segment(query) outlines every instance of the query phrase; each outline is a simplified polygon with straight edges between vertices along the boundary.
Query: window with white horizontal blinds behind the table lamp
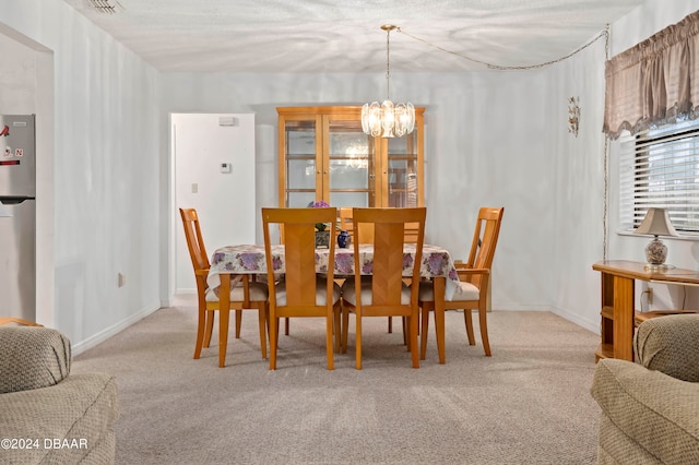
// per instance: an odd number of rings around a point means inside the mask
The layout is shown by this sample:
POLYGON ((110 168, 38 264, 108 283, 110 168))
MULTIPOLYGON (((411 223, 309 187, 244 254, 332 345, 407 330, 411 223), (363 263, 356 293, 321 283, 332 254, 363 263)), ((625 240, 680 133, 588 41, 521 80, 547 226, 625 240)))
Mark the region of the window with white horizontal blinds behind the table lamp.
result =
POLYGON ((699 120, 623 138, 620 178, 624 229, 655 206, 667 208, 680 236, 699 234, 699 120))

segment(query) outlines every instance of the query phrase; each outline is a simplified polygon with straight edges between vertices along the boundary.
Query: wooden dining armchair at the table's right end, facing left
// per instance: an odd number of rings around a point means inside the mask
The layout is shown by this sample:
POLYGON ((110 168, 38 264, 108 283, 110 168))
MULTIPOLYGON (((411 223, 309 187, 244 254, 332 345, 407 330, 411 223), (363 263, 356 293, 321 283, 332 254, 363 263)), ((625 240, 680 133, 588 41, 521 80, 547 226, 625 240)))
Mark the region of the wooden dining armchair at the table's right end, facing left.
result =
POLYGON ((453 296, 445 294, 443 279, 422 282, 419 288, 419 308, 422 315, 420 358, 425 359, 427 350, 427 329, 429 311, 435 312, 435 329, 437 334, 437 350, 439 362, 445 363, 445 310, 463 309, 464 323, 469 344, 475 345, 473 334, 472 311, 478 310, 478 324, 485 355, 490 357, 490 343, 487 326, 487 296, 490 282, 490 267, 498 243, 500 224, 505 207, 481 207, 473 233, 471 251, 466 263, 457 263, 459 286, 453 296))

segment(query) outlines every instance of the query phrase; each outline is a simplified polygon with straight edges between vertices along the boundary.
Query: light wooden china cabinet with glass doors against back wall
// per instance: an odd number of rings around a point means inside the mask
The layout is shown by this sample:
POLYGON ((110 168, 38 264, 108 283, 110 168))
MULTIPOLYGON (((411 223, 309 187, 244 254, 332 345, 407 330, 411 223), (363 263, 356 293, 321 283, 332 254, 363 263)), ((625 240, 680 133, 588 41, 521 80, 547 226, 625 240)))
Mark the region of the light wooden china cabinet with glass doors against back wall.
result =
POLYGON ((280 206, 424 205, 424 111, 402 138, 362 130, 360 106, 279 107, 280 206))

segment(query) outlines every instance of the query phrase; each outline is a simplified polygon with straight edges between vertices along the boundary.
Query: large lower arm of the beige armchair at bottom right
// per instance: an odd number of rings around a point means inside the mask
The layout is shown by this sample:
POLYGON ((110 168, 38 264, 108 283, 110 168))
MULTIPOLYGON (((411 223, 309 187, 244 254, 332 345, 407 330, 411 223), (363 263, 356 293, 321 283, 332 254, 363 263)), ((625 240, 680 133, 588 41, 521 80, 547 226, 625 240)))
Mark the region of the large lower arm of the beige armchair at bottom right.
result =
POLYGON ((601 425, 606 425, 600 430, 605 456, 616 463, 650 457, 665 464, 699 463, 699 384, 630 361, 602 359, 591 394, 602 407, 601 425))

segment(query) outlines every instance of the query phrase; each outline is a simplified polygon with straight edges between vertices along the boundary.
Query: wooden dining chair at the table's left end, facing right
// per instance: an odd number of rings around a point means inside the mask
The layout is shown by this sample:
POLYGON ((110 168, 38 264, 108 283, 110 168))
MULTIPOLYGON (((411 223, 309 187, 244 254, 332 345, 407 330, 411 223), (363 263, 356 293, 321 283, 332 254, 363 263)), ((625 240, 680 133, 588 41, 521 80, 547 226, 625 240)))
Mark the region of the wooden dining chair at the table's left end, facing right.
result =
POLYGON ((257 310, 260 326, 260 349, 262 358, 266 358, 266 320, 268 320, 268 286, 263 283, 256 283, 247 274, 234 276, 222 275, 222 278, 229 276, 230 282, 230 305, 227 309, 222 309, 218 301, 217 289, 212 289, 206 284, 209 276, 209 255, 204 247, 204 239, 199 225, 199 216, 194 208, 179 208, 185 226, 185 238, 189 249, 189 257, 194 267, 197 278, 197 295, 199 301, 199 322, 197 325, 197 343, 194 346, 194 358, 201 356, 202 347, 209 347, 214 325, 214 312, 218 310, 218 366, 224 367, 226 361, 226 347, 228 344, 228 314, 230 310, 236 311, 236 338, 240 337, 240 325, 242 323, 242 310, 257 310), (235 281, 235 283, 234 283, 235 281))

